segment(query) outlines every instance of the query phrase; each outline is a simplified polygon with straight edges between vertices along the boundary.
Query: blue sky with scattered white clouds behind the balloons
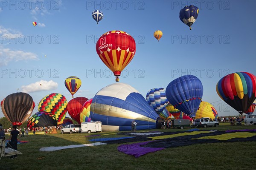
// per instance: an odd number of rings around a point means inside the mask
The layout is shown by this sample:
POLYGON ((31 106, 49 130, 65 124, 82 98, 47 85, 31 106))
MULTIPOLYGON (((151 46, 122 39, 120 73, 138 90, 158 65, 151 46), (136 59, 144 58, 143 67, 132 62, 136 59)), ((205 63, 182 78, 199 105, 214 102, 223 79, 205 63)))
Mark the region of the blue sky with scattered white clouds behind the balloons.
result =
POLYGON ((218 96, 216 83, 233 72, 256 74, 253 0, 29 2, 1 0, 1 101, 26 91, 27 85, 36 104, 50 93, 63 94, 70 101, 64 86, 69 76, 82 81, 75 97, 92 98, 115 83, 95 48, 98 38, 111 30, 125 31, 136 41, 136 54, 120 82, 143 96, 151 88, 166 88, 177 77, 192 74, 204 86, 203 101, 212 103, 219 116, 238 115, 218 96), (185 5, 199 8, 191 31, 179 19, 185 5), (95 9, 104 14, 98 25, 91 16, 95 9), (33 21, 38 25, 34 27, 33 21), (163 32, 160 42, 153 36, 156 30, 163 32), (31 85, 35 82, 43 82, 43 87, 31 85))

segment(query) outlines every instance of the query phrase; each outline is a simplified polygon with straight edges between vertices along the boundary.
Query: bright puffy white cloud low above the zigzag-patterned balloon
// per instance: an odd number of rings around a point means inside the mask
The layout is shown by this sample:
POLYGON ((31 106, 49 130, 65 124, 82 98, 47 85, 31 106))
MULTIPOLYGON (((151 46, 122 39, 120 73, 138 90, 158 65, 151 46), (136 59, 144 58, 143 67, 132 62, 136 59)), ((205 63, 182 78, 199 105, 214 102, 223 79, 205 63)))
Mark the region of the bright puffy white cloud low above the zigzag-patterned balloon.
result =
POLYGON ((40 80, 39 82, 31 83, 30 85, 21 86, 21 91, 24 93, 32 93, 37 91, 49 91, 58 88, 58 83, 50 80, 49 82, 45 80, 40 80))

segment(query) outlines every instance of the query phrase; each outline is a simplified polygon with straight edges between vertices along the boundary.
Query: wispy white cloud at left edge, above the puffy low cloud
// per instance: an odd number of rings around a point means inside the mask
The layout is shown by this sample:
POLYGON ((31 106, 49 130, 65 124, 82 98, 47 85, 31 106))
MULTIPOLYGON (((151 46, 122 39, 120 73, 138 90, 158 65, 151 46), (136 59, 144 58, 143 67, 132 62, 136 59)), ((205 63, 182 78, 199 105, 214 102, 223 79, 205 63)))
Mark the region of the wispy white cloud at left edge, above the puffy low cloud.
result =
POLYGON ((12 61, 38 60, 38 55, 26 51, 12 51, 9 48, 0 48, 0 65, 7 65, 12 61))

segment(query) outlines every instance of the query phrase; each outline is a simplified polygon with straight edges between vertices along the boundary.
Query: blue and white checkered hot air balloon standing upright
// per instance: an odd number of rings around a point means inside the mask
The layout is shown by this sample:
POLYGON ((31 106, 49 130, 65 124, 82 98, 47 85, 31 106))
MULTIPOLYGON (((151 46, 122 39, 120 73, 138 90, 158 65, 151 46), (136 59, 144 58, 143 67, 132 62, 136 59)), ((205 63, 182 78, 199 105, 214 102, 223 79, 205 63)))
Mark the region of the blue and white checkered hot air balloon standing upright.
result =
POLYGON ((157 114, 162 113, 168 104, 166 91, 164 88, 152 88, 150 91, 148 91, 146 100, 148 101, 148 104, 157 112, 157 114))

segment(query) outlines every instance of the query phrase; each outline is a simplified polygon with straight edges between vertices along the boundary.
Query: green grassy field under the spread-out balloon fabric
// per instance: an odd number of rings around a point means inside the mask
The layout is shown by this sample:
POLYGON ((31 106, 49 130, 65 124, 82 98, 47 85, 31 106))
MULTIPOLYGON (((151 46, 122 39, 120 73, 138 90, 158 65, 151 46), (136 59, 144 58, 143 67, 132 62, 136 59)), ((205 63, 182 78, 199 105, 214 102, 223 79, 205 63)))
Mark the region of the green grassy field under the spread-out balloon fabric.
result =
MULTIPOLYGON (((230 126, 221 123, 219 127, 199 128, 201 130, 238 130, 256 129, 251 126, 230 126)), ((157 131, 184 131, 168 129, 157 131)), ((142 131, 142 130, 141 130, 142 131)), ((156 131, 143 130, 143 131, 156 131)), ((140 132, 140 131, 137 131, 140 132)), ((116 132, 91 133, 102 135, 116 132)), ((88 139, 119 137, 88 136, 87 133, 75 134, 30 134, 22 137, 28 143, 18 144, 23 154, 17 159, 3 157, 0 170, 252 170, 256 169, 256 141, 214 144, 194 144, 190 146, 167 148, 148 153, 139 158, 129 156, 117 150, 121 144, 107 144, 93 147, 78 147, 53 152, 41 152, 41 147, 66 146, 70 144, 88 144, 88 139)), ((9 139, 9 136, 6 136, 9 139)))

